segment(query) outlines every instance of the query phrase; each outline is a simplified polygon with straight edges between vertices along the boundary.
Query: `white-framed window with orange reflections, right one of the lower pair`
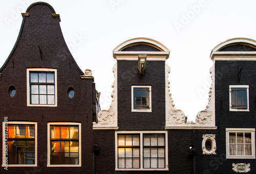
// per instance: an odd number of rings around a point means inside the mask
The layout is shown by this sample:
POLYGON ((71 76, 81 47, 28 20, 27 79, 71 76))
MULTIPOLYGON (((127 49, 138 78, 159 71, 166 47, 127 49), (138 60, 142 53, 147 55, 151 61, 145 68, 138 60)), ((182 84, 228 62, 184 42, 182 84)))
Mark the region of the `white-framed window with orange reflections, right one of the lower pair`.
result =
POLYGON ((81 166, 81 123, 48 123, 48 167, 81 166))

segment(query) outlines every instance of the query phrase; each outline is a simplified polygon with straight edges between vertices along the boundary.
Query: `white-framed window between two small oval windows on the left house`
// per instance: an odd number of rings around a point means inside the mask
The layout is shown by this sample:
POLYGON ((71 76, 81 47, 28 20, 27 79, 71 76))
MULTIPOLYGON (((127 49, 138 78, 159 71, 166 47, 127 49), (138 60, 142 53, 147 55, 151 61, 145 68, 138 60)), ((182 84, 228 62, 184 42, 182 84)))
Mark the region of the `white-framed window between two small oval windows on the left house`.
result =
POLYGON ((27 69, 27 105, 57 106, 57 70, 27 69))

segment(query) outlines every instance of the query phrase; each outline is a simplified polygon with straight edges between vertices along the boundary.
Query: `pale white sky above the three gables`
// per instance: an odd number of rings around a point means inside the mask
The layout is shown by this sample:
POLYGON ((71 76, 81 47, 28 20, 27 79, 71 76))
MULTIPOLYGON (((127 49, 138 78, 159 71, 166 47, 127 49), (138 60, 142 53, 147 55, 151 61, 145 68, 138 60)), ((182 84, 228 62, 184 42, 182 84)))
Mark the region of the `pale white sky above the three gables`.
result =
MULTIPOLYGON (((33 0, 0 0, 0 67, 8 58, 33 0)), ((245 0, 46 0, 57 14, 79 68, 91 69, 101 110, 111 103, 113 50, 147 37, 170 50, 170 93, 188 120, 208 104, 211 50, 230 38, 256 40, 256 1, 245 0)))

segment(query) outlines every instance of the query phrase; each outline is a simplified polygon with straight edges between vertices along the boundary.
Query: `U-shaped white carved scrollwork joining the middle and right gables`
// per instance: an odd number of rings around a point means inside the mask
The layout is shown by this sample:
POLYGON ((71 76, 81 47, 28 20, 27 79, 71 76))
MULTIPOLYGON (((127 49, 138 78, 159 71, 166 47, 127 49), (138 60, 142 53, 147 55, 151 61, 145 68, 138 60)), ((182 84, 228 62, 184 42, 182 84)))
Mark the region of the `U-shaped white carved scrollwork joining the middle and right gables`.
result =
POLYGON ((196 122, 185 121, 185 114, 177 110, 173 103, 172 94, 169 92, 168 74, 170 67, 165 63, 165 129, 217 129, 215 126, 215 65, 210 68, 211 86, 209 91, 208 105, 204 111, 196 116, 196 122))

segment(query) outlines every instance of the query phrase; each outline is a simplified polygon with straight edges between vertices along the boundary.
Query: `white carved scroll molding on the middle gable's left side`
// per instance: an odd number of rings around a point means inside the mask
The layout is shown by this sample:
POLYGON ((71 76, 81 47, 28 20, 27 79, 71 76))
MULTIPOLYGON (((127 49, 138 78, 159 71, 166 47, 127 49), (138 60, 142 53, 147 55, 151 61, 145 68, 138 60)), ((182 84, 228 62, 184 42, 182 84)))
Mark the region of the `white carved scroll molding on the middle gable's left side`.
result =
POLYGON ((98 113, 98 123, 93 122, 93 129, 118 129, 117 127, 117 62, 113 67, 114 82, 111 93, 112 102, 109 110, 102 110, 98 113))

